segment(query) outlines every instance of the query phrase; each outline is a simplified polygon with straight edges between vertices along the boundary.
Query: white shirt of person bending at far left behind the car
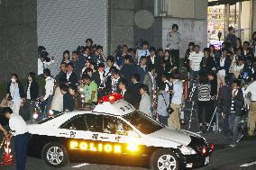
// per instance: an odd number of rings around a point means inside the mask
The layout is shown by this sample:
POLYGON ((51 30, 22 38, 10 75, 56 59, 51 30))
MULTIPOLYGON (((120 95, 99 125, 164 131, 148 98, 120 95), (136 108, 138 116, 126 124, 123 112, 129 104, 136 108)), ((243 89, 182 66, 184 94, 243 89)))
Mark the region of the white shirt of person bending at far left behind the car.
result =
POLYGON ((23 120, 23 117, 19 114, 11 114, 9 120, 9 127, 13 131, 12 134, 14 136, 22 135, 28 132, 26 122, 23 120))

